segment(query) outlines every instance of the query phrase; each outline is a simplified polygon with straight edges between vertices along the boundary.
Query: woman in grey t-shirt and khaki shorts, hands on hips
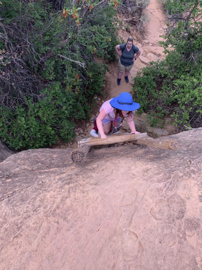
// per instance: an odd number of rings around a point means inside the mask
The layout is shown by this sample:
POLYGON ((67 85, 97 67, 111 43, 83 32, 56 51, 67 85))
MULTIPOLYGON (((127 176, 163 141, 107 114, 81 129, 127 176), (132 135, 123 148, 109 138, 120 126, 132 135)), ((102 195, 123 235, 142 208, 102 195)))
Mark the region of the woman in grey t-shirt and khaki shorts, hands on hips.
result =
POLYGON ((128 83, 129 82, 128 74, 134 65, 134 61, 140 56, 141 50, 137 46, 133 45, 132 38, 128 38, 126 44, 116 45, 116 53, 117 55, 121 56, 118 62, 119 71, 118 71, 117 85, 121 84, 121 76, 124 71, 125 71, 125 80, 128 83))

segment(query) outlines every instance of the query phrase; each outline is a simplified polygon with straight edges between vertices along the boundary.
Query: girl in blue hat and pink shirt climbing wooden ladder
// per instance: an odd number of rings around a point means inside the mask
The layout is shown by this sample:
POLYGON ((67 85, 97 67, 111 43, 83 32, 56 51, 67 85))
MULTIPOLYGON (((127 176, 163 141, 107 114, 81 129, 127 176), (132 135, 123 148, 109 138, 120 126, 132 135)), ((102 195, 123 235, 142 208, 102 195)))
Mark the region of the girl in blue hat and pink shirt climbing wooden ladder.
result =
POLYGON ((140 104, 133 102, 133 98, 128 92, 120 93, 118 97, 107 100, 102 104, 99 115, 93 121, 94 127, 90 131, 90 135, 98 137, 99 131, 101 139, 106 139, 105 133, 113 134, 120 130, 124 117, 131 129, 130 134, 140 133, 136 131, 133 121, 134 111, 139 108, 140 104))

